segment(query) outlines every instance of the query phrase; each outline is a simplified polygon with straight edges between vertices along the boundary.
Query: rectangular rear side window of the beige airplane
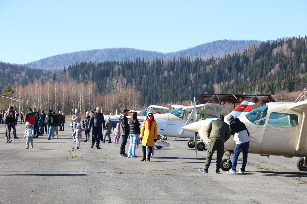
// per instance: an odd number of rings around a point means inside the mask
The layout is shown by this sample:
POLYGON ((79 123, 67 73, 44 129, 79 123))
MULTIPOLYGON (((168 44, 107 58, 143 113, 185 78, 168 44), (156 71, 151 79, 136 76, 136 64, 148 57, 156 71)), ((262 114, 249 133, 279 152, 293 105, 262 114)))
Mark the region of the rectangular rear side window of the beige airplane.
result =
POLYGON ((272 126, 288 126, 296 127, 298 124, 298 116, 290 113, 271 113, 269 117, 269 125, 272 126))

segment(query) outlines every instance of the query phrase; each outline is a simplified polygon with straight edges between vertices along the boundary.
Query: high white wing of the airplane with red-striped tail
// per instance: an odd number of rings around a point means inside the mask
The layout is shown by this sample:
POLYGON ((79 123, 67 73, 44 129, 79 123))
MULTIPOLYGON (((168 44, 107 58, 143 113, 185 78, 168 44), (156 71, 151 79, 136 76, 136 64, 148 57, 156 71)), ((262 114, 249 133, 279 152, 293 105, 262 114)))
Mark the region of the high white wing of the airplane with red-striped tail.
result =
MULTIPOLYGON (((183 110, 192 112, 194 106, 187 106, 184 107, 183 110)), ((196 112, 199 114, 210 114, 210 115, 218 115, 218 114, 224 114, 227 113, 230 110, 230 107, 223 106, 219 104, 200 104, 196 105, 196 112)))

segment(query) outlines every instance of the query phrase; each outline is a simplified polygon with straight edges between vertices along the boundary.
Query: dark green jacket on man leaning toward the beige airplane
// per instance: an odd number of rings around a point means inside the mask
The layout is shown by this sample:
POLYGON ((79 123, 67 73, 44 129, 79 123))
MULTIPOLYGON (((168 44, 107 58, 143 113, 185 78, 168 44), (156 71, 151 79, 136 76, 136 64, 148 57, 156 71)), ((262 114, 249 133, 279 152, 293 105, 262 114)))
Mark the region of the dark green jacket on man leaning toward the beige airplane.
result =
POLYGON ((206 129, 207 137, 211 139, 219 139, 226 142, 230 138, 229 125, 223 119, 212 120, 206 129))

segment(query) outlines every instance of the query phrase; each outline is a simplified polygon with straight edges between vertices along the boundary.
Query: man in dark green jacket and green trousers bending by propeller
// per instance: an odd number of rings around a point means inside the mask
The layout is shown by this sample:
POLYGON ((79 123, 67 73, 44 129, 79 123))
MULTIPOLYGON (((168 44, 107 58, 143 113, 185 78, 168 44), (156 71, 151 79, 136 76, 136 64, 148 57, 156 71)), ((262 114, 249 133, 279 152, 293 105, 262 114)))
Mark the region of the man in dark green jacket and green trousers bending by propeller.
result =
POLYGON ((224 154, 224 143, 230 138, 229 125, 224 122, 224 116, 220 115, 217 120, 212 120, 207 126, 206 133, 209 139, 206 164, 204 168, 199 168, 198 170, 204 174, 208 174, 208 168, 211 164, 212 155, 216 150, 215 173, 219 174, 224 154))

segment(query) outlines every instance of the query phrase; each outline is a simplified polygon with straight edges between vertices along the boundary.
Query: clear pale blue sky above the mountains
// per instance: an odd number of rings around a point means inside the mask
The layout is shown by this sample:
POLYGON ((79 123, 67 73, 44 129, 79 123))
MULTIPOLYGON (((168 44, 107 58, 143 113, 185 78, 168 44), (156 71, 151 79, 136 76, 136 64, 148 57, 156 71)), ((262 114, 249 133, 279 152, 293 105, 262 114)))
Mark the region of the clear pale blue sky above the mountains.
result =
POLYGON ((172 52, 214 40, 307 35, 307 1, 0 0, 0 61, 91 49, 172 52))

